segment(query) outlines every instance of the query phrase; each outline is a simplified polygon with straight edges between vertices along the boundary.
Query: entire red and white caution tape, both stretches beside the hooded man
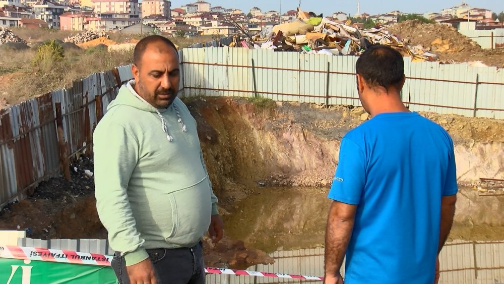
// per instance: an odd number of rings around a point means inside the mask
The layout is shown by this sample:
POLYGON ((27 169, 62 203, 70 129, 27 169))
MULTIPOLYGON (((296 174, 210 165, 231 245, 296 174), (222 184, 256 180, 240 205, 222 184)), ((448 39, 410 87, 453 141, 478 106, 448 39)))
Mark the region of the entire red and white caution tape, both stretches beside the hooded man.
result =
MULTIPOLYGON (((68 250, 56 250, 45 248, 1 246, 0 258, 31 259, 39 261, 63 262, 73 264, 91 264, 110 266, 111 255, 76 252, 68 250)), ((269 273, 247 270, 234 270, 227 268, 205 267, 206 273, 211 274, 231 274, 241 276, 277 277, 290 279, 324 280, 323 277, 305 276, 294 274, 269 273)))

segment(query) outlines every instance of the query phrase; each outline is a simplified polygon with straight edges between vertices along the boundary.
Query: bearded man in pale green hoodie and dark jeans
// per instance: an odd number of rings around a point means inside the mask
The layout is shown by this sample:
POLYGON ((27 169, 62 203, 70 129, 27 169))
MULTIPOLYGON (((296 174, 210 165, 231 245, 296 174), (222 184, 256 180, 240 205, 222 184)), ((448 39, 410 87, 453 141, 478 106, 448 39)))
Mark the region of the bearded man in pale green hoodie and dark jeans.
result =
POLYGON ((217 212, 196 121, 177 98, 174 44, 142 39, 134 80, 123 85, 94 134, 95 196, 116 251, 119 283, 205 283, 201 238, 218 242, 217 212))

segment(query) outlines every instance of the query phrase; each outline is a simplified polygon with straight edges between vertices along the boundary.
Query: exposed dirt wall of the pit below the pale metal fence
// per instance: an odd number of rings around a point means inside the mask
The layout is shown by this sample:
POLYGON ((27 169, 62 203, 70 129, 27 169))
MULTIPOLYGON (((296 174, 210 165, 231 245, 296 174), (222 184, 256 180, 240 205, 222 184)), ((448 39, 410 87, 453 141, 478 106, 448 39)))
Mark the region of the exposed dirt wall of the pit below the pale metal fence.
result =
MULTIPOLYGON (((296 103, 257 107, 231 98, 196 101, 192 108, 217 190, 230 181, 329 186, 341 138, 367 118, 358 108, 296 103)), ((460 183, 504 179, 504 121, 421 114, 453 137, 460 183)))

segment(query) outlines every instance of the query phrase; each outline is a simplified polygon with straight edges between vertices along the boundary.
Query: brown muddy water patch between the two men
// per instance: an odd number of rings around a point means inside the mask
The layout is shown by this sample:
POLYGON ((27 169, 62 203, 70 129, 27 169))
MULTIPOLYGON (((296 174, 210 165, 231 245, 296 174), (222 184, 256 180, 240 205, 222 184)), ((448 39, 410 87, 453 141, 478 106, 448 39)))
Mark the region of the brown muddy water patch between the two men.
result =
POLYGON ((328 188, 255 187, 224 217, 226 235, 273 252, 324 243, 328 188))

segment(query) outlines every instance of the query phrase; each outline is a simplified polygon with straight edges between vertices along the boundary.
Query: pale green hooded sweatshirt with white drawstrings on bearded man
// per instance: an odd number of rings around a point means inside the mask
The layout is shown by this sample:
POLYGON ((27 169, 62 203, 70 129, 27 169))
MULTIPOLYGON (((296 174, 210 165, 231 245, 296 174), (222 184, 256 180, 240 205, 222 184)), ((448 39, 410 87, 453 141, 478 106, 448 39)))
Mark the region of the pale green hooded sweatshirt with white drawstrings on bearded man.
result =
POLYGON ((218 214, 196 121, 176 98, 157 109, 132 80, 93 134, 96 207, 110 247, 126 265, 145 249, 196 245, 218 214))

